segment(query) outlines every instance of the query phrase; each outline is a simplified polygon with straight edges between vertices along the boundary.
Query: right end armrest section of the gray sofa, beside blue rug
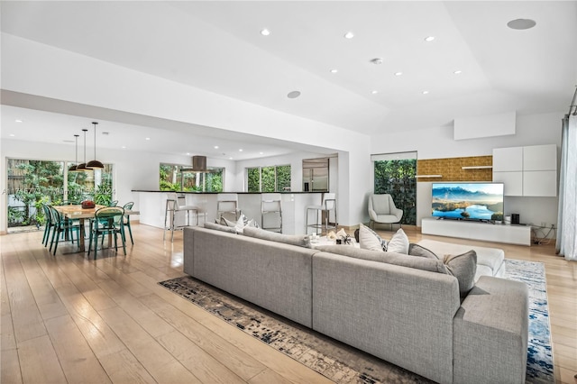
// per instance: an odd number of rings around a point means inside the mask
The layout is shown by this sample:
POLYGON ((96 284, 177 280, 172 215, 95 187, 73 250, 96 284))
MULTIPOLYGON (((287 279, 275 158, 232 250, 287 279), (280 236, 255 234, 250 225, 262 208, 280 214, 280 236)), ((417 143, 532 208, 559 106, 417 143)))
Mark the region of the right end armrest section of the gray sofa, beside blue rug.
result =
POLYGON ((454 317, 454 383, 524 383, 528 289, 482 276, 454 317))

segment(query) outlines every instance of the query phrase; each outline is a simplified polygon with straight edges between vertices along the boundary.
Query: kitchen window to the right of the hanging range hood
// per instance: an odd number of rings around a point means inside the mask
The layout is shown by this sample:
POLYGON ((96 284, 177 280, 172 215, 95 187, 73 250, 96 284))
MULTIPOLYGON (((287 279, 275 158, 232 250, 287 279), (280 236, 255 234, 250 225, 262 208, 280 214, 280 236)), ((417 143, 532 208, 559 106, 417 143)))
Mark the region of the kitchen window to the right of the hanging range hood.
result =
POLYGON ((286 192, 290 190, 290 166, 278 165, 246 169, 248 192, 286 192))

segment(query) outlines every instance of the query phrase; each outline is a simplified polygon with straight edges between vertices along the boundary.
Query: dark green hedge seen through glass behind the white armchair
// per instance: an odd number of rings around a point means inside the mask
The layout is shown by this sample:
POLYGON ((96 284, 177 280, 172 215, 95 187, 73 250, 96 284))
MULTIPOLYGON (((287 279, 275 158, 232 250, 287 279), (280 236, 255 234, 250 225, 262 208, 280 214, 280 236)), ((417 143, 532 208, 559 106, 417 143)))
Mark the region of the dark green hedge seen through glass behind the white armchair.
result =
POLYGON ((417 159, 375 161, 376 194, 388 193, 403 210, 402 224, 417 224, 417 159))

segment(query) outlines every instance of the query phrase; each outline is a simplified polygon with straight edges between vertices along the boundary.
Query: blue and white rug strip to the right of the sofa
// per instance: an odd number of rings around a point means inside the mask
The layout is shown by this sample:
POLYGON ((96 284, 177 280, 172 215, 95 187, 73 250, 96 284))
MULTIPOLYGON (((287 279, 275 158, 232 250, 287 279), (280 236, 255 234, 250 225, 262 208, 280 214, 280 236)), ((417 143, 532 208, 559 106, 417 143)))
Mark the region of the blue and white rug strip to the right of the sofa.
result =
POLYGON ((547 306, 545 265, 542 262, 505 260, 507 278, 529 288, 527 383, 554 382, 551 325, 547 306))

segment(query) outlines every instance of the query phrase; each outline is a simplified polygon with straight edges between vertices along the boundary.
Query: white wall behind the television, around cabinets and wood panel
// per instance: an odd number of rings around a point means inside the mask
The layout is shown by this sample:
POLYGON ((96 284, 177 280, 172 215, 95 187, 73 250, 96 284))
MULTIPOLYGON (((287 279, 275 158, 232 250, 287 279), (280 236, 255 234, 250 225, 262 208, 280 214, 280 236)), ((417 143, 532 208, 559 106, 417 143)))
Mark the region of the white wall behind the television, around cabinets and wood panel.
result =
MULTIPOLYGON (((453 127, 427 128, 417 132, 375 136, 371 153, 417 151, 417 159, 444 159, 491 155, 493 148, 557 144, 561 155, 561 119, 564 113, 517 115, 515 134, 491 138, 453 140, 453 127)), ((518 213, 522 223, 557 223, 556 197, 506 197, 505 215, 518 213)), ((431 215, 431 183, 417 183, 417 225, 431 215)))

